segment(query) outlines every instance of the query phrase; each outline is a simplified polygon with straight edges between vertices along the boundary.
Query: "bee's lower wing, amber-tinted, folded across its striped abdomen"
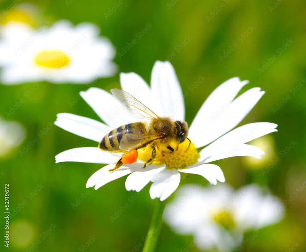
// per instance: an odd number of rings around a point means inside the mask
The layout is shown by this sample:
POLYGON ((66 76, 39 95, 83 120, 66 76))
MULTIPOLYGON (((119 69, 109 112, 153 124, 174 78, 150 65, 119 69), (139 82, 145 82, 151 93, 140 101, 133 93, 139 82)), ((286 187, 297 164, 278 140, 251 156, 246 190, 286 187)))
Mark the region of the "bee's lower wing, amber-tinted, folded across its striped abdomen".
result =
POLYGON ((161 135, 127 133, 122 137, 119 148, 120 150, 138 149, 160 138, 161 135))

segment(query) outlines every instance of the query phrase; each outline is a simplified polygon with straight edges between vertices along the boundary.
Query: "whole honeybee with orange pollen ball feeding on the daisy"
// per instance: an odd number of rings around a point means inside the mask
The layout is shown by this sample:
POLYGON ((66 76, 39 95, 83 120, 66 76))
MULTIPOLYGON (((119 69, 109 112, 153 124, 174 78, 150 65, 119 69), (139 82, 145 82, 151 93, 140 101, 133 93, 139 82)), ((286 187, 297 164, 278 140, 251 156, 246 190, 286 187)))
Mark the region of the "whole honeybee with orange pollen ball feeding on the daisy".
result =
MULTIPOLYGON (((110 152, 133 150, 133 153, 136 153, 137 158, 138 153, 136 150, 151 145, 152 155, 151 159, 147 161, 147 163, 149 163, 156 156, 155 147, 157 150, 159 150, 159 146, 165 147, 170 153, 173 153, 174 149, 170 146, 172 141, 182 143, 185 139, 188 139, 188 124, 185 121, 174 121, 169 117, 159 117, 135 97, 121 89, 111 89, 110 91, 123 105, 126 113, 138 119, 148 119, 150 120, 150 123, 146 127, 144 123, 135 122, 122 125, 112 130, 106 134, 101 143, 99 143, 98 147, 101 150, 110 152)), ((122 157, 124 155, 125 154, 123 154, 122 157)), ((115 167, 109 170, 109 172, 112 172, 121 167, 121 165, 126 164, 125 162, 122 162, 122 157, 119 159, 115 167)))

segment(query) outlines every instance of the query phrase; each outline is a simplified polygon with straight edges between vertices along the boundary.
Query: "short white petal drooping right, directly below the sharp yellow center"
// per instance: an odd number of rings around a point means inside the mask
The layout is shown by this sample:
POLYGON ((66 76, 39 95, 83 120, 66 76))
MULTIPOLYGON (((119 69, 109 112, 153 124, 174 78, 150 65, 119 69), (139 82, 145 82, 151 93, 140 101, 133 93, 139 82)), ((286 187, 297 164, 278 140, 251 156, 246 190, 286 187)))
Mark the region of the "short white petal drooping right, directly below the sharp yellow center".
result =
POLYGON ((178 169, 179 172, 199 174, 206 178, 212 185, 217 184, 217 180, 220 182, 225 182, 225 177, 221 168, 218 165, 213 164, 203 164, 203 165, 192 165, 185 169, 178 169))

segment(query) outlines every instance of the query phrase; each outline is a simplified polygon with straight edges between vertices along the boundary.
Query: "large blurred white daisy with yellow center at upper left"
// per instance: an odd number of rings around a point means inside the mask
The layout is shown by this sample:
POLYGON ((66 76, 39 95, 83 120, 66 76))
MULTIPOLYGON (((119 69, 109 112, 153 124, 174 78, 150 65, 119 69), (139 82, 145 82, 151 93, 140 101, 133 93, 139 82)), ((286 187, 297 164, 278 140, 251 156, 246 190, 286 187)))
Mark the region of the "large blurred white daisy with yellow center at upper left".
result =
POLYGON ((99 36, 97 25, 73 26, 68 20, 50 25, 46 20, 35 30, 28 24, 9 22, 2 28, 1 83, 80 84, 115 74, 114 46, 107 38, 99 36))

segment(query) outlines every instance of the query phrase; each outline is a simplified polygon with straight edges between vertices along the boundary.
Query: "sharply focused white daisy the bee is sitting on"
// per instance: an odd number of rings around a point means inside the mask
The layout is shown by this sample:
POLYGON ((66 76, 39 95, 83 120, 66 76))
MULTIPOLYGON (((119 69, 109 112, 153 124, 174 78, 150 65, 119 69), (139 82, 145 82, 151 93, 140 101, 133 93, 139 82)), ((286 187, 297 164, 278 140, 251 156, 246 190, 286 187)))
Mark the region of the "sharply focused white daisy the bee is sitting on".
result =
MULTIPOLYGON (((121 73, 120 83, 124 91, 143 102, 160 117, 184 121, 184 98, 170 62, 156 61, 151 74, 151 87, 133 72, 121 73)), ((181 172, 199 174, 214 185, 217 184, 217 180, 225 182, 220 167, 208 164, 209 162, 245 155, 260 158, 260 155, 264 154, 262 150, 244 143, 277 131, 276 124, 261 122, 246 124, 225 134, 241 122, 264 93, 260 91, 260 88, 255 87, 234 99, 247 83, 248 81, 240 81, 238 77, 235 77, 221 84, 207 98, 193 120, 189 128, 188 138, 192 141, 189 148, 189 142, 186 139, 180 144, 178 150, 167 157, 165 155, 166 160, 157 151, 156 158, 145 169, 143 169, 144 160, 147 161, 150 156, 145 156, 144 153, 148 154, 148 152, 140 150, 136 163, 123 165, 114 172, 108 172, 108 170, 114 168, 122 153, 109 153, 98 147, 66 150, 55 157, 56 162, 109 164, 95 172, 88 179, 86 187, 95 186, 95 189, 98 189, 112 180, 131 173, 125 181, 125 188, 128 191, 139 192, 151 181, 153 184, 150 188, 150 196, 152 199, 160 198, 161 201, 176 190, 181 180, 181 172), (227 109, 219 115, 218 119, 211 121, 209 118, 223 106, 227 106, 227 109), (207 144, 209 145, 198 153, 196 147, 207 144), (233 151, 233 148, 237 150, 233 151)), ((110 93, 102 89, 92 87, 85 92, 80 92, 80 95, 105 123, 69 113, 60 113, 55 122, 57 126, 76 135, 101 142, 104 135, 111 130, 137 120, 125 114, 122 105, 110 93)))

